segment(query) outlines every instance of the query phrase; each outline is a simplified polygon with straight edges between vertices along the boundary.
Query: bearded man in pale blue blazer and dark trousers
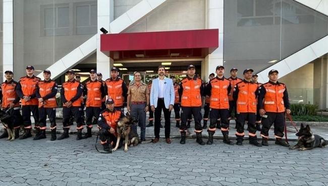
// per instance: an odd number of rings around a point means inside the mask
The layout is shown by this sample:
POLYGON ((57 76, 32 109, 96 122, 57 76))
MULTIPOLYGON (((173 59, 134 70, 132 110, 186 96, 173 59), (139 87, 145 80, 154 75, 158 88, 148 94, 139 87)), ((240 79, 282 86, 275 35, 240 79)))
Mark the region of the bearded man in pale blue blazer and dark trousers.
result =
POLYGON ((154 112, 155 139, 153 143, 159 141, 160 117, 163 110, 165 118, 165 139, 167 143, 171 143, 171 111, 174 105, 175 92, 172 79, 165 77, 165 66, 158 66, 158 77, 152 81, 150 89, 150 108, 154 112))

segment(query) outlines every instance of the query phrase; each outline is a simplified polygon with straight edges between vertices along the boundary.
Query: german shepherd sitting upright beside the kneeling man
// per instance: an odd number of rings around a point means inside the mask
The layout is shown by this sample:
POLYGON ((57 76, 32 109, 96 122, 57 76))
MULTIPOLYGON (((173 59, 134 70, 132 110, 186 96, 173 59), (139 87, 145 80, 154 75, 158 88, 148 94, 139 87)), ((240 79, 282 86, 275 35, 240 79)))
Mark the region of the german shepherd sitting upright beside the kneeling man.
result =
POLYGON ((135 119, 133 116, 131 116, 129 113, 126 114, 125 117, 121 119, 121 121, 117 124, 117 142, 116 146, 113 149, 113 151, 116 151, 119 147, 121 137, 123 137, 124 140, 124 151, 128 152, 128 146, 137 146, 140 142, 140 138, 137 133, 135 133, 133 130, 131 130, 132 125, 136 125, 138 122, 137 119, 135 119))

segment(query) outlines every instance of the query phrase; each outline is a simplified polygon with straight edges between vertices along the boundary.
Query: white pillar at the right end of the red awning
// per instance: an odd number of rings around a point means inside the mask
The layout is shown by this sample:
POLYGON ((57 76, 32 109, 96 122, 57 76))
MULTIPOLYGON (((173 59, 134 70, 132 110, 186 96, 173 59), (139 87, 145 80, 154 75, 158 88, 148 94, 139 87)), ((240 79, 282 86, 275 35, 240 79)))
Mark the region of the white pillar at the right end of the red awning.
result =
POLYGON ((202 78, 205 80, 210 73, 215 72, 217 65, 223 65, 223 26, 224 26, 224 0, 206 0, 206 29, 218 29, 218 48, 205 57, 202 62, 202 78))

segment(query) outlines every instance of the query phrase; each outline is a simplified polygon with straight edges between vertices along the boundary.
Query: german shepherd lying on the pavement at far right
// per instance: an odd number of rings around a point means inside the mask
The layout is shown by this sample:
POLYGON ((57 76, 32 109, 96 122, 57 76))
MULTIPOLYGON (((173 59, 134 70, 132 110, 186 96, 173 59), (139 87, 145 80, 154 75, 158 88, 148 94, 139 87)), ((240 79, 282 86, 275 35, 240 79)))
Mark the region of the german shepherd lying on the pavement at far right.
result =
POLYGON ((312 134, 310 126, 306 125, 306 127, 304 127, 303 123, 301 124, 300 130, 295 135, 298 136, 298 142, 296 145, 289 147, 291 150, 297 148, 299 151, 311 150, 315 147, 323 148, 327 145, 326 140, 319 135, 312 134))

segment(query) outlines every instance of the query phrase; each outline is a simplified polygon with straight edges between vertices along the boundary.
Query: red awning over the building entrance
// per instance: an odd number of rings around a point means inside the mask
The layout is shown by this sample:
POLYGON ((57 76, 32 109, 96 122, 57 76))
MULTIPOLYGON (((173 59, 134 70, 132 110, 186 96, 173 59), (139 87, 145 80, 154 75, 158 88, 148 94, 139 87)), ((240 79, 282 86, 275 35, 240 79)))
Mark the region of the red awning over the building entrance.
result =
POLYGON ((205 57, 217 47, 218 29, 100 36, 100 51, 115 60, 205 57))

